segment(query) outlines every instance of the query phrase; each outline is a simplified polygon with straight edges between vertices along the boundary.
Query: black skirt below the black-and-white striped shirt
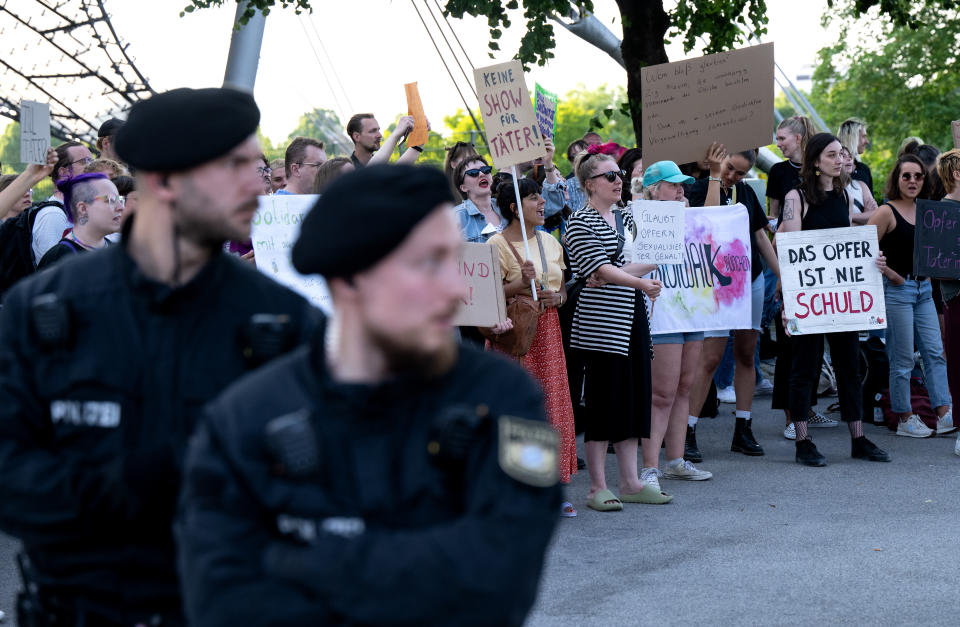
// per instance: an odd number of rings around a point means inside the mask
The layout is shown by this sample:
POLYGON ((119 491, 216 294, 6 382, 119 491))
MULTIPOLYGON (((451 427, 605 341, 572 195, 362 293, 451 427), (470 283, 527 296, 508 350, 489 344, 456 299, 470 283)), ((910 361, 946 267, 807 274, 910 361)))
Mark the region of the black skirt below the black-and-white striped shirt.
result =
POLYGON ((650 437, 650 327, 639 291, 634 303, 629 355, 580 349, 586 441, 650 437))

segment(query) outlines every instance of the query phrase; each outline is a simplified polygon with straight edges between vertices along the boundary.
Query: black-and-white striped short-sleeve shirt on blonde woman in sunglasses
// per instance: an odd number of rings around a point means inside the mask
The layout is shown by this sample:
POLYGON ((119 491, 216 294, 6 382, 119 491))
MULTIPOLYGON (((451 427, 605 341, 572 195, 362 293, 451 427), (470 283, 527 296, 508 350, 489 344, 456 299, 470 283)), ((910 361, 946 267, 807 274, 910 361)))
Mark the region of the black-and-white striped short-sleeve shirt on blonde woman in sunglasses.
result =
MULTIPOLYGON (((623 211, 623 227, 624 232, 635 230, 629 211, 623 211)), ((573 273, 588 277, 610 263, 620 237, 593 207, 586 206, 570 216, 566 239, 573 273)), ((614 266, 622 267, 623 252, 614 261, 614 266)), ((631 287, 612 283, 584 287, 573 314, 570 346, 629 356, 635 302, 642 301, 637 301, 637 291, 631 287)))

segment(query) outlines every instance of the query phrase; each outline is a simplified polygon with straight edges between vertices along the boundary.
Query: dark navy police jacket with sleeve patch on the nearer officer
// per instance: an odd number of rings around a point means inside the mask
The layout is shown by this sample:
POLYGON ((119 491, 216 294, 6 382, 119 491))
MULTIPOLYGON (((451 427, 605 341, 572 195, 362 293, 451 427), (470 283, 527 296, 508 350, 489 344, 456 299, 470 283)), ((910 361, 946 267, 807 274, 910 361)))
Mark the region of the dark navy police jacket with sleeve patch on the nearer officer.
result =
POLYGON ((334 382, 322 337, 211 404, 177 538, 191 625, 521 625, 559 517, 556 434, 515 362, 334 382))

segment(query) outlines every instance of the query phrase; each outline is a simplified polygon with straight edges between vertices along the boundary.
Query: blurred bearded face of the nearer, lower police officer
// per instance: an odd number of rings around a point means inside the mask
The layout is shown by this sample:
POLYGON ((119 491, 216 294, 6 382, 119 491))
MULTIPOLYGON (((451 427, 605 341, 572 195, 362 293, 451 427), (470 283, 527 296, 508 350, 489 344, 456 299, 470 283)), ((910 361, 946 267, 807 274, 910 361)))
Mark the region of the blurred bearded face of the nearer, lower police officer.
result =
POLYGON ((457 269, 462 245, 443 204, 399 248, 354 277, 360 323, 390 371, 442 372, 453 363, 453 317, 467 297, 457 269))

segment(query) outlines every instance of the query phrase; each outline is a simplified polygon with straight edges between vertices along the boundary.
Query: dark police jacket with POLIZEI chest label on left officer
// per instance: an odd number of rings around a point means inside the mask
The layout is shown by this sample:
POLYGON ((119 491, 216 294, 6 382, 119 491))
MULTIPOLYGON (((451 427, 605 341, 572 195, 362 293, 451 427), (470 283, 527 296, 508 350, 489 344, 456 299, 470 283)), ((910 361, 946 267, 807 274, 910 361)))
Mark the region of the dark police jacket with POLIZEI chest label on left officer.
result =
POLYGON ((8 292, 0 528, 23 541, 40 583, 92 603, 175 612, 172 521, 201 408, 305 339, 318 318, 219 252, 178 288, 144 276, 118 245, 8 292))

